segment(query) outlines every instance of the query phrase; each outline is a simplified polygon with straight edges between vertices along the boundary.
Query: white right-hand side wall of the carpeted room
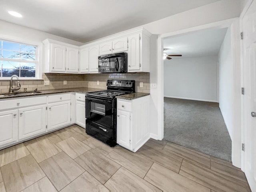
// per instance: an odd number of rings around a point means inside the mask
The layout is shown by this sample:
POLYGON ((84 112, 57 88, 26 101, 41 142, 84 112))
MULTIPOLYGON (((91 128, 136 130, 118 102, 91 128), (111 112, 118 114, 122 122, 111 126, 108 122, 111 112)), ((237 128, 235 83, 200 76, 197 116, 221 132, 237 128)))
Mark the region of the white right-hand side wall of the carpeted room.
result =
POLYGON ((229 135, 232 139, 232 58, 231 58, 231 33, 228 28, 223 40, 219 60, 219 100, 220 111, 226 123, 229 135))

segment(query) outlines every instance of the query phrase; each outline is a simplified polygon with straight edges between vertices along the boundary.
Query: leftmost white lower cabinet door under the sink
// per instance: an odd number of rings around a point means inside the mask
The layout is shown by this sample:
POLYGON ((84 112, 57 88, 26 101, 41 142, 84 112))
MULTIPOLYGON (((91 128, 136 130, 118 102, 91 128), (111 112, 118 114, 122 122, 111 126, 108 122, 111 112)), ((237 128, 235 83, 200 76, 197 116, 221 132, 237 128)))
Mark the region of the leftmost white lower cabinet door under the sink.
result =
POLYGON ((18 110, 0 112, 0 146, 18 139, 18 110))

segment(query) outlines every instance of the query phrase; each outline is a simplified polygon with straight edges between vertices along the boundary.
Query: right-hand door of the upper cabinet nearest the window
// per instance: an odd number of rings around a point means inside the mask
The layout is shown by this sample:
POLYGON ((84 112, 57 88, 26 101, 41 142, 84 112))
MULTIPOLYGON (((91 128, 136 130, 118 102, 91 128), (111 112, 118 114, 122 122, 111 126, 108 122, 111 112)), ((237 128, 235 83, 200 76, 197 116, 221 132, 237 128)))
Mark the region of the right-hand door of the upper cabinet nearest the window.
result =
POLYGON ((67 47, 66 72, 78 73, 78 49, 67 47))

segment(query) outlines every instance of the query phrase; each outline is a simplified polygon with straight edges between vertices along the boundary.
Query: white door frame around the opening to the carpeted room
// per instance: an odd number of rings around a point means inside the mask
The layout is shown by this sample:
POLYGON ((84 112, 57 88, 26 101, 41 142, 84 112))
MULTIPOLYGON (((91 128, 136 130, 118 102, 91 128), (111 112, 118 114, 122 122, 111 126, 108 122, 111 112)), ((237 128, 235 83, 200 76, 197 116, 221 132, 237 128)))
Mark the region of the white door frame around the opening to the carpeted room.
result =
MULTIPOLYGON (((234 47, 234 50, 232 50, 232 61, 236 61, 236 64, 238 64, 240 66, 240 39, 239 39, 239 34, 240 34, 239 30, 240 29, 239 29, 239 19, 238 18, 222 20, 222 21, 213 22, 210 24, 204 24, 201 26, 196 26, 196 27, 187 28, 184 30, 178 30, 178 31, 158 35, 158 40, 157 40, 158 41, 157 42, 158 43, 158 53, 157 53, 157 55, 158 55, 158 58, 157 58, 157 64, 158 64, 158 70, 157 70, 158 140, 162 140, 164 138, 164 60, 162 57, 162 53, 164 51, 164 48, 163 48, 164 38, 185 34, 187 32, 203 30, 203 29, 226 28, 226 27, 230 27, 232 24, 234 24, 234 26, 232 26, 232 30, 231 30, 231 46, 234 47), (235 34, 237 34, 237 35, 235 35, 235 34)), ((237 73, 239 73, 239 76, 241 75, 240 71, 236 72, 236 74, 237 73)), ((239 78, 238 81, 241 82, 241 79, 239 78)), ((234 85, 233 85, 233 87, 234 87, 234 85)), ((241 100, 239 100, 239 108, 240 108, 240 102, 241 102, 241 100)), ((234 116, 234 115, 235 114, 233 114, 232 116, 234 116)), ((233 120, 234 119, 240 120, 241 115, 234 116, 233 120)), ((234 124, 233 124, 233 126, 234 126, 234 124)), ((241 146, 241 138, 240 138, 241 126, 240 126, 240 124, 238 124, 238 126, 236 126, 235 131, 237 133, 239 133, 238 134, 239 137, 237 136, 235 138, 236 140, 233 140, 233 136, 230 136, 231 140, 232 140, 232 163, 234 166, 240 168, 241 167, 241 148, 240 148, 240 146, 241 146)))

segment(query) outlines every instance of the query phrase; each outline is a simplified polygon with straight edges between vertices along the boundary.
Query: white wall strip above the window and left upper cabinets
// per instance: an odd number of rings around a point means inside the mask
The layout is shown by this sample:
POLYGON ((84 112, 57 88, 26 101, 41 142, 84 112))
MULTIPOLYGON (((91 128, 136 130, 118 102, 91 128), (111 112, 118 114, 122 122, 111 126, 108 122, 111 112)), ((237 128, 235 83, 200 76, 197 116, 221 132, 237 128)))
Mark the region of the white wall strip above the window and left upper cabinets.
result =
POLYGON ((60 36, 52 35, 52 34, 38 31, 35 29, 23 27, 20 25, 12 24, 2 20, 0 20, 0 26, 1 26, 0 36, 5 36, 7 38, 15 38, 22 41, 38 42, 38 43, 41 43, 43 40, 49 38, 49 39, 77 45, 77 46, 83 45, 83 43, 81 42, 77 42, 77 41, 63 38, 60 36))

